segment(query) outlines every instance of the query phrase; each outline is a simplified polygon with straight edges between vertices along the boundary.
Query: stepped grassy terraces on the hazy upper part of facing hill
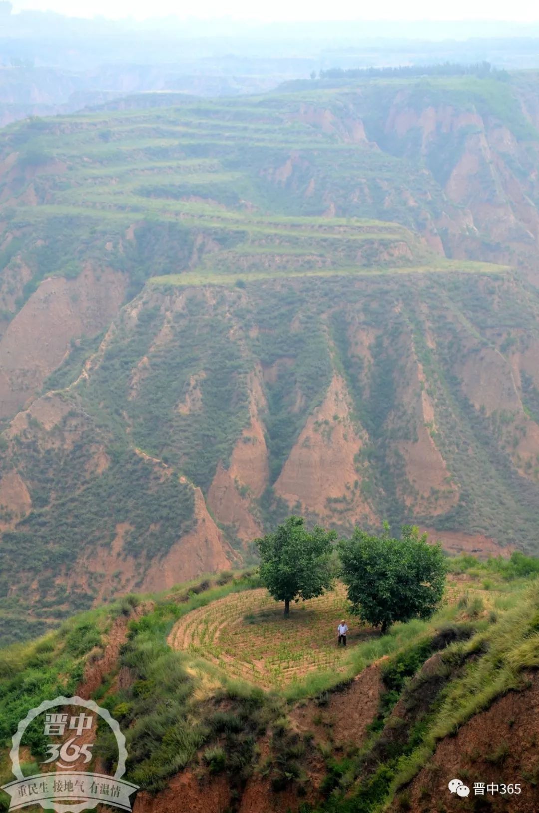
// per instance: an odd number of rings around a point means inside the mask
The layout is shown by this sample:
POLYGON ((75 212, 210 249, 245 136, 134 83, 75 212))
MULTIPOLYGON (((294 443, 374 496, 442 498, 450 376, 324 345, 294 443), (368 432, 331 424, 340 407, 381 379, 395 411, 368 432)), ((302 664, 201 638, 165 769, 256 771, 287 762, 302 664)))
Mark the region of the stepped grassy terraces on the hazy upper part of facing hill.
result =
MULTIPOLYGON (((406 80, 422 104, 457 91, 476 106, 490 103, 499 84, 406 80)), ((133 292, 149 276, 156 285, 233 285, 283 276, 502 272, 441 259, 420 239, 425 211, 436 220, 447 201, 423 164, 383 143, 380 122, 401 86, 398 79, 322 81, 215 102, 142 94, 141 109, 13 125, 0 161, 15 156, 19 172, 12 194, 2 189, 0 215, 12 231, 62 241, 61 250, 43 250, 20 237, 33 285, 47 274, 76 276, 83 255, 127 271, 133 292), (378 107, 380 120, 372 117, 378 107), (334 216, 343 214, 350 216, 334 216), (148 228, 127 247, 133 226, 148 228), (76 239, 66 241, 67 233, 76 239)), ((509 93, 502 90, 500 115, 509 93)))

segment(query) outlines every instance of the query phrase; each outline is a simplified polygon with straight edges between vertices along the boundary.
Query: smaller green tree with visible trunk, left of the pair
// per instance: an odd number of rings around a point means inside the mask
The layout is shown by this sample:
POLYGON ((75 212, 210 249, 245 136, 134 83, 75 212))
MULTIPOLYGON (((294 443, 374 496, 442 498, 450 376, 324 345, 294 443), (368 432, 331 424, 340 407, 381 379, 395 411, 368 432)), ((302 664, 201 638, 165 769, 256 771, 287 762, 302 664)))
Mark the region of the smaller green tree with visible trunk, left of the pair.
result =
POLYGON ((302 517, 290 516, 275 533, 254 541, 261 559, 260 579, 277 602, 285 602, 285 615, 291 601, 305 601, 331 589, 336 538, 334 531, 318 525, 309 531, 302 517))

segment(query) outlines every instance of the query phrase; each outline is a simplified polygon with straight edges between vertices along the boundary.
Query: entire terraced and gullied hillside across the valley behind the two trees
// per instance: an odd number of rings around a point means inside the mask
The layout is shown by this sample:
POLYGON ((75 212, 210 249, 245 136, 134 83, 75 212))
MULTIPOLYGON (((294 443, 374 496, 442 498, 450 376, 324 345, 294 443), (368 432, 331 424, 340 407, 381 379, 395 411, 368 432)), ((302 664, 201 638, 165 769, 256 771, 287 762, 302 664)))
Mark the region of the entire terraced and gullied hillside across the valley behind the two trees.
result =
POLYGON ((537 551, 533 83, 2 131, 2 635, 248 561, 290 511, 537 551))

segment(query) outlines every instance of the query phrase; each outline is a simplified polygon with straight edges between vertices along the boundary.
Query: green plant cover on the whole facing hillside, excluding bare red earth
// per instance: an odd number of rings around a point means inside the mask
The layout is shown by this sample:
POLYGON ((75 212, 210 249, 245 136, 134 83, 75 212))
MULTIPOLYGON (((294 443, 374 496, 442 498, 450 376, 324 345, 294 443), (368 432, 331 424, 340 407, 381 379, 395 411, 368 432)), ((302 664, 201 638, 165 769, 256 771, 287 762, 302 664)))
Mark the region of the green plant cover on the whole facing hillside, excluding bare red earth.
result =
MULTIPOLYGON (((350 506, 363 501, 372 524, 387 518, 393 530, 420 521, 537 548, 537 456, 515 451, 539 414, 531 376, 523 372, 519 393, 526 423, 516 412, 472 406, 454 367, 459 353, 489 346, 509 359, 534 340, 537 293, 506 264, 529 235, 515 224, 511 250, 493 249, 495 236, 463 225, 463 207, 474 200, 455 206, 446 189, 474 128, 485 137, 499 124, 522 129, 519 82, 324 81, 248 99, 175 96, 173 107, 145 97, 3 133, 6 323, 49 276, 72 280, 89 266, 100 284, 106 268, 122 285, 127 277, 127 287, 126 307, 102 344, 91 330, 75 339, 46 379, 43 392, 67 389, 79 418, 2 436, 2 476, 18 472, 33 503, 24 517, 0 508, 9 525, 6 561, 23 572, 15 595, 0 574, 2 634, 45 628, 12 628, 20 608, 30 609, 26 588, 36 577, 37 617, 28 624, 54 624, 100 592, 90 574, 66 595, 43 571, 49 555, 51 567, 62 568, 74 552, 110 550, 118 524, 133 515, 122 556, 134 554, 140 570, 145 551, 159 559, 193 528, 193 486, 207 498, 217 467, 226 470, 244 442, 254 379, 269 476, 256 498, 249 483, 236 485, 263 530, 294 508, 276 483, 338 374, 364 442, 357 477, 324 506, 332 527, 349 529, 350 506), (454 127, 438 120, 442 108, 454 127), (430 134, 419 126, 425 110, 437 117, 430 134), (402 127, 393 127, 400 116, 404 124, 399 118, 402 127), (437 237, 449 256, 458 244, 469 259, 441 257, 437 237), (480 262, 493 256, 503 264, 480 262), (517 341, 522 325, 526 337, 517 341), (370 338, 360 358, 352 337, 363 330, 370 338), (88 377, 75 384, 92 357, 88 377), (418 417, 402 393, 414 358, 433 421, 418 417), (446 466, 427 493, 402 446, 419 444, 424 429, 446 466)), ((528 182, 534 159, 525 146, 503 160, 528 182)), ((500 177, 491 172, 488 195, 500 192, 500 177)), ((76 323, 84 295, 67 296, 76 323)), ((298 502, 316 521, 319 506, 303 504, 303 495, 298 502)), ((240 548, 241 528, 215 519, 240 548)))

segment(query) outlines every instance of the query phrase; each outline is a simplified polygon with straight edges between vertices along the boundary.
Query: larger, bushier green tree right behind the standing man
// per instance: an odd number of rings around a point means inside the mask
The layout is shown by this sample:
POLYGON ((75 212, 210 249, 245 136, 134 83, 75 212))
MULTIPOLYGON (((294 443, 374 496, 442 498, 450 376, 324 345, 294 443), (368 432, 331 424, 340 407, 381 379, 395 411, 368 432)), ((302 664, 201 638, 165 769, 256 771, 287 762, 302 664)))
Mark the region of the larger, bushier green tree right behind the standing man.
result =
POLYGON ((427 534, 402 526, 402 538, 380 536, 355 528, 339 543, 342 579, 355 615, 387 632, 395 621, 426 619, 440 605, 446 580, 446 559, 427 534))

